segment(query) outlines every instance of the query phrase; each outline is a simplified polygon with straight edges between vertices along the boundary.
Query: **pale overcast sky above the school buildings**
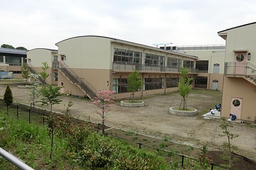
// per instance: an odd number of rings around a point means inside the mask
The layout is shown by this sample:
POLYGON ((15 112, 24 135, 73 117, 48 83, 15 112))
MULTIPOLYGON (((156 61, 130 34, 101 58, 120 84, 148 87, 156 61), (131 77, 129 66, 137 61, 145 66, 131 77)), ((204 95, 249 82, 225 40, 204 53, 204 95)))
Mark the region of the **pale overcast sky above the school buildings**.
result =
POLYGON ((0 44, 53 48, 101 35, 145 45, 224 44, 217 32, 256 21, 256 0, 6 0, 0 44))

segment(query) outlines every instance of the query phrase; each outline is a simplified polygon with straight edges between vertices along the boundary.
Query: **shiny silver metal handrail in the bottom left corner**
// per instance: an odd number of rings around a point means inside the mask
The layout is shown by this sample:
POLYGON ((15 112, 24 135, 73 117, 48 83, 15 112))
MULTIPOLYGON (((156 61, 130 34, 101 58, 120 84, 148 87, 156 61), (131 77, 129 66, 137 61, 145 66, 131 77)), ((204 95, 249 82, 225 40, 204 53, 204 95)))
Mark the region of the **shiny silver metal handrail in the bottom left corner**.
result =
POLYGON ((4 149, 0 148, 0 155, 2 157, 4 157, 6 160, 8 160, 9 162, 11 162, 12 164, 14 164, 16 167, 18 167, 20 170, 34 170, 33 168, 31 168, 30 166, 28 166, 27 164, 25 164, 24 162, 22 162, 22 160, 20 160, 19 158, 17 158, 16 156, 10 154, 9 152, 6 152, 4 149))

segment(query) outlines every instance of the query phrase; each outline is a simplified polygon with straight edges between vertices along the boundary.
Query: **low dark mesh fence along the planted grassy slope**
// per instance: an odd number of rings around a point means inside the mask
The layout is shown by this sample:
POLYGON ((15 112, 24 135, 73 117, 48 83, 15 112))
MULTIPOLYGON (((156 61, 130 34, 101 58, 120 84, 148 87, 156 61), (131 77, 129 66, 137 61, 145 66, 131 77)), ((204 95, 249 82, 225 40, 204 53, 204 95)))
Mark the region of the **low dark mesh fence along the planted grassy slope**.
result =
MULTIPOLYGON (((15 116, 17 117, 17 119, 19 119, 20 110, 25 111, 27 113, 27 115, 25 115, 25 116, 27 116, 27 121, 29 123, 40 122, 40 123, 42 123, 42 125, 44 125, 44 118, 50 114, 50 111, 38 109, 38 108, 33 110, 33 109, 30 109, 29 106, 26 106, 23 104, 10 104, 10 103, 6 104, 3 101, 0 101, 0 106, 6 107, 6 112, 8 115, 11 114, 10 109, 13 109, 12 113, 16 113, 15 116), (38 115, 35 118, 35 120, 32 121, 31 115, 34 113, 36 113, 38 115), (38 116, 42 117, 41 121, 38 119, 38 116)), ((79 119, 78 121, 81 121, 81 120, 79 119)), ((95 129, 95 130, 98 130, 98 129, 95 129)), ((130 141, 130 140, 127 140, 127 139, 124 139, 122 137, 118 137, 118 136, 115 136, 112 134, 107 134, 107 136, 111 137, 115 140, 122 141, 122 143, 124 143, 126 145, 132 145, 134 147, 138 147, 139 149, 143 149, 145 151, 154 152, 154 154, 156 154, 157 156, 164 157, 166 163, 170 166, 176 165, 176 166, 179 166, 181 169, 186 169, 186 170, 192 170, 192 169, 196 170, 198 168, 203 169, 200 160, 198 160, 197 158, 193 158, 193 157, 186 156, 184 154, 179 154, 176 152, 170 152, 168 150, 159 149, 159 148, 152 147, 152 146, 142 144, 142 143, 135 143, 133 141, 130 141), (198 168, 196 168, 196 167, 198 167, 198 168)), ((224 166, 215 165, 213 163, 210 163, 207 170, 232 170, 232 169, 230 169, 230 168, 228 169, 224 166)))

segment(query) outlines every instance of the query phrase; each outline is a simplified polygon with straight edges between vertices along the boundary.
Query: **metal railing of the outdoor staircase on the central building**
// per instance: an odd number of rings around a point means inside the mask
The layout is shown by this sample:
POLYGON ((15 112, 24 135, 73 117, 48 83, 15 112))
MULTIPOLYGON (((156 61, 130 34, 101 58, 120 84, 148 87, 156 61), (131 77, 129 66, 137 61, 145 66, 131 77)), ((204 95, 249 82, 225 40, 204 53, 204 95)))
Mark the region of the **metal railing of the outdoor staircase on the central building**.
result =
POLYGON ((66 69, 66 71, 69 72, 69 74, 71 74, 76 79, 76 81, 78 81, 78 83, 85 84, 91 90, 91 92, 95 96, 97 96, 96 95, 97 90, 89 82, 87 82, 84 78, 80 78, 67 64, 62 64, 59 61, 57 63, 56 61, 54 61, 52 63, 52 67, 53 68, 64 68, 64 69, 66 69))

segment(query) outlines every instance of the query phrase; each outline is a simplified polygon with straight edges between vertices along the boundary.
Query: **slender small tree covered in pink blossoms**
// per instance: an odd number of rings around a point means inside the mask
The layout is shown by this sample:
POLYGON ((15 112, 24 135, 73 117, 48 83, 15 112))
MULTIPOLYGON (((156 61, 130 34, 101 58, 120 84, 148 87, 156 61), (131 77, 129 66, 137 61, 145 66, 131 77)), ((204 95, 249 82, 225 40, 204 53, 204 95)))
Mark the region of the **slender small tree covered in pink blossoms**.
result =
POLYGON ((100 115, 102 119, 102 134, 105 135, 104 131, 104 125, 106 121, 106 116, 108 112, 110 111, 110 107, 114 103, 114 100, 111 99, 112 94, 114 94, 114 91, 107 91, 107 90, 102 90, 98 92, 98 96, 94 99, 92 102, 95 104, 97 107, 100 108, 100 111, 98 111, 98 115, 100 115))

